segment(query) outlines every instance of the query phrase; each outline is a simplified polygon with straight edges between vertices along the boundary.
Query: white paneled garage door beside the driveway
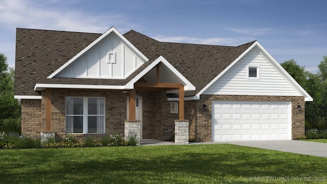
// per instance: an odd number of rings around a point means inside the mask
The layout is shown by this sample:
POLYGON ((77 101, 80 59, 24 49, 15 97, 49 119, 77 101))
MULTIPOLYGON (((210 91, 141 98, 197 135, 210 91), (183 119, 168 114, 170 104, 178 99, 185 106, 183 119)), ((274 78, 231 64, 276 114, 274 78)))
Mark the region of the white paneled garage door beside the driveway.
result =
POLYGON ((212 140, 291 140, 291 102, 212 101, 212 140))

